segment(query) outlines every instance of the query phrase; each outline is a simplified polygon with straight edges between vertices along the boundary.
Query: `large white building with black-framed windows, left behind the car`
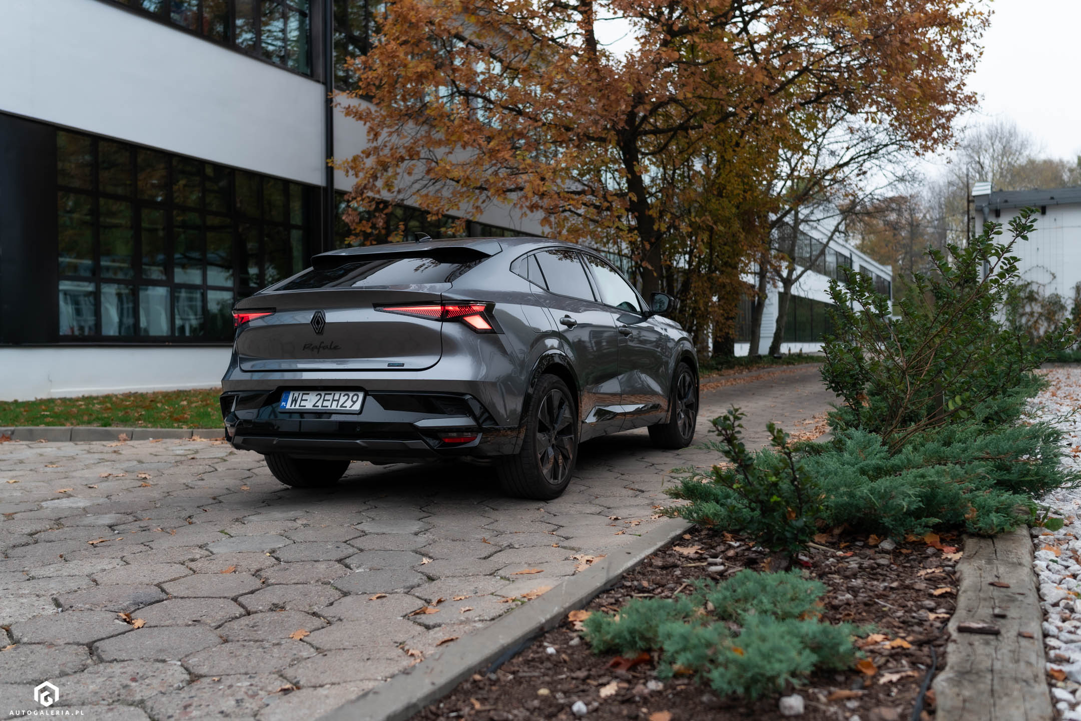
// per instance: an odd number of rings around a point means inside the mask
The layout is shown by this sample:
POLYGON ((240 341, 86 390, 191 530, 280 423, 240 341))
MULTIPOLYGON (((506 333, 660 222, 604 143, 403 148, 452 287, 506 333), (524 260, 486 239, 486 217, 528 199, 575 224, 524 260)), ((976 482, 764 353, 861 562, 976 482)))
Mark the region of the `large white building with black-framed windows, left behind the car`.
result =
MULTIPOLYGON (((231 306, 341 245, 328 97, 375 0, 5 0, 0 400, 212 387, 231 306)), ((415 209, 406 230, 439 237, 415 209)), ((493 209, 469 235, 538 235, 493 209)))

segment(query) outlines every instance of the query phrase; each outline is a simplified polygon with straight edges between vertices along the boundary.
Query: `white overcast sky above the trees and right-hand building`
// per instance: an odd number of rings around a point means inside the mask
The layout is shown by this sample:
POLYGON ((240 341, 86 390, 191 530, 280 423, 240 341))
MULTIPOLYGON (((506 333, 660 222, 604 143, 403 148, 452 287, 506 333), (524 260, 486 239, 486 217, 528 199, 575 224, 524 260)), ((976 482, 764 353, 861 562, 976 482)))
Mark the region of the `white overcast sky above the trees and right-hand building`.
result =
MULTIPOLYGON (((1081 153, 1081 0, 991 0, 990 6, 984 56, 969 81, 979 109, 961 124, 1009 118, 1042 155, 1072 160, 1081 153)), ((622 21, 598 24, 601 42, 617 54, 633 50, 628 29, 622 21)), ((924 162, 939 165, 940 158, 924 162)))

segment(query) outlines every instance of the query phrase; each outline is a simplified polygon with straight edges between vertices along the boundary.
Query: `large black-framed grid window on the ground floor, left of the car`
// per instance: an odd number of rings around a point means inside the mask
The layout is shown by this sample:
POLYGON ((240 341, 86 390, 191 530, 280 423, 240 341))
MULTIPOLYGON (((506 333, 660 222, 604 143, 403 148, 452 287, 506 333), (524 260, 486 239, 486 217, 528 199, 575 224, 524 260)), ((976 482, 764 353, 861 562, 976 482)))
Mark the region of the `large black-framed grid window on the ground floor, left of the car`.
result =
POLYGON ((307 265, 307 186, 82 133, 56 149, 62 336, 227 341, 236 298, 307 265))

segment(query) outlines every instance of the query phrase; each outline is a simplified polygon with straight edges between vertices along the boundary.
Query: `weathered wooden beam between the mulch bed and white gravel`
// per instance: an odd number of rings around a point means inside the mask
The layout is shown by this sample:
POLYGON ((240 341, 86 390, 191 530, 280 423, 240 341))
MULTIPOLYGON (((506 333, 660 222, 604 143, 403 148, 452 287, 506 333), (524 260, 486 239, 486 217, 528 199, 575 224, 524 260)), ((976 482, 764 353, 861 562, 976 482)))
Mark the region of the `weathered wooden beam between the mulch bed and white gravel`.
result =
POLYGON ((1052 721, 1028 529, 965 536, 957 570, 946 669, 934 681, 935 721, 1052 721))

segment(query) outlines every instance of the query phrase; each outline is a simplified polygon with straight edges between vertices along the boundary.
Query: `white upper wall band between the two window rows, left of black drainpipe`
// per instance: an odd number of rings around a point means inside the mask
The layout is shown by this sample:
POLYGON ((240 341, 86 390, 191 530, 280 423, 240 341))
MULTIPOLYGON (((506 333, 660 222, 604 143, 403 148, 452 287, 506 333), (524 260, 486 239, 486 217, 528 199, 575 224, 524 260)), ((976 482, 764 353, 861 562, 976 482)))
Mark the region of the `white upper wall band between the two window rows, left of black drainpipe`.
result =
POLYGON ((4 0, 0 110, 323 185, 322 83, 96 0, 4 0))

